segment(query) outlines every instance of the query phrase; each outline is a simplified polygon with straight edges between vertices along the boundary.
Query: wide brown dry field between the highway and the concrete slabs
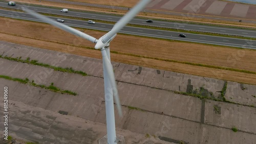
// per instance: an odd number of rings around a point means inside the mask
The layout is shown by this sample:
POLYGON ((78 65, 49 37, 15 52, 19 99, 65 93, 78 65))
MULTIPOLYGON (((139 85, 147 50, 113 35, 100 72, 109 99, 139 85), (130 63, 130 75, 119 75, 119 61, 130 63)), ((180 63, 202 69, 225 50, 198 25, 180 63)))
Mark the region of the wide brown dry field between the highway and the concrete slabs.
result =
MULTIPOLYGON (((79 45, 94 47, 93 43, 81 38, 77 38, 74 35, 56 29, 45 23, 14 20, 9 18, 0 19, 1 40, 75 55, 99 59, 101 58, 99 51, 78 47, 79 45), (15 36, 14 34, 17 34, 18 36, 15 36), (35 40, 28 37, 40 40, 35 40), (62 44, 56 43, 56 41, 61 42, 62 44), (75 46, 70 46, 68 44, 74 44, 75 46)), ((96 38, 99 38, 105 34, 105 32, 91 30, 84 30, 84 32, 96 38)), ((141 56, 150 56, 154 58, 164 58, 256 71, 256 51, 247 49, 242 50, 233 49, 230 47, 209 46, 195 43, 171 42, 167 40, 119 34, 112 41, 111 50, 141 56), (136 45, 134 43, 136 43, 136 45)), ((111 57, 112 60, 116 62, 248 84, 256 84, 255 74, 247 74, 237 71, 194 66, 122 54, 112 53, 111 57)))

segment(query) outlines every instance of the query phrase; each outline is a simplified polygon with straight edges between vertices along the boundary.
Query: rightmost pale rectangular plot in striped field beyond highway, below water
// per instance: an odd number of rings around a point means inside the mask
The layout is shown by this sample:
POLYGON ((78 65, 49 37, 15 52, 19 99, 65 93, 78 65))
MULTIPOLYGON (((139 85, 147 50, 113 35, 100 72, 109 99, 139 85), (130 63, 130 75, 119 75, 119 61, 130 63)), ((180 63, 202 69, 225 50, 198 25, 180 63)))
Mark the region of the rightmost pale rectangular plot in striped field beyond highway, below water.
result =
POLYGON ((235 4, 230 15, 245 17, 248 9, 249 5, 235 4))

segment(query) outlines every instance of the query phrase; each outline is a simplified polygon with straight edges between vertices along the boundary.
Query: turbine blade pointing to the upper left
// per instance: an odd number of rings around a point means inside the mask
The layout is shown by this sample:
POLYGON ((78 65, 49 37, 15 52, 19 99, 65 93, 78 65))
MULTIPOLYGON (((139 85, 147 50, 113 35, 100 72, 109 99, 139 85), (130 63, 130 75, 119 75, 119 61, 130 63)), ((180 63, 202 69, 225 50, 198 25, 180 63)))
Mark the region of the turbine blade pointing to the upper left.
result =
POLYGON ((29 10, 27 8, 22 7, 22 9, 24 11, 26 11, 27 13, 33 15, 34 17, 36 17, 38 19, 41 19, 41 20, 44 20, 45 22, 47 22, 47 23, 49 23, 49 24, 51 24, 51 25, 53 25, 53 26, 55 26, 55 27, 57 27, 57 28, 59 28, 61 30, 64 30, 64 31, 69 32, 71 34, 74 34, 76 36, 79 36, 79 37, 82 37, 84 39, 87 39, 87 40, 89 40, 89 41, 91 41, 93 43, 97 42, 96 38, 94 38, 94 37, 92 37, 92 36, 90 36, 88 34, 82 33, 82 32, 80 32, 80 31, 78 31, 76 29, 73 29, 73 28, 69 27, 69 26, 63 25, 62 23, 54 21, 54 20, 52 20, 52 19, 50 19, 50 18, 48 18, 46 16, 40 15, 40 14, 38 14, 38 13, 36 13, 34 11, 31 11, 31 10, 29 10))

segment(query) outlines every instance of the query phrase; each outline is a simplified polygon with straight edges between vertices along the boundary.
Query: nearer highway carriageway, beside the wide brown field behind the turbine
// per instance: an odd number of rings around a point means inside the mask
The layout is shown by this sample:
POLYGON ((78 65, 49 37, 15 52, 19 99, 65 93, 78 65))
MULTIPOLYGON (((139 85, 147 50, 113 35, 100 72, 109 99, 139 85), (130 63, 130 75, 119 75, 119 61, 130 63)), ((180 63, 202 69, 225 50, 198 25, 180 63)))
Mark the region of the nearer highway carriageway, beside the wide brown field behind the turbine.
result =
MULTIPOLYGON (((23 12, 0 10, 0 16, 43 22, 23 12)), ((50 18, 56 20, 57 18, 61 18, 61 17, 50 17, 50 18)), ((65 20, 65 25, 72 26, 72 27, 80 27, 80 28, 102 30, 102 31, 110 31, 113 27, 113 25, 108 23, 97 22, 95 25, 92 25, 92 24, 89 24, 87 21, 83 21, 83 20, 75 20, 75 19, 68 19, 68 18, 61 18, 61 19, 65 20)), ((173 39, 173 40, 182 40, 182 41, 190 41, 190 42, 234 46, 234 47, 241 47, 241 48, 247 48, 247 49, 256 49, 256 40, 207 36, 207 35, 190 34, 190 33, 184 33, 187 37, 182 38, 182 37, 178 37, 179 32, 145 29, 145 28, 137 28, 137 27, 124 27, 120 31, 120 33, 147 36, 147 37, 156 37, 156 38, 163 38, 163 39, 173 39)))

